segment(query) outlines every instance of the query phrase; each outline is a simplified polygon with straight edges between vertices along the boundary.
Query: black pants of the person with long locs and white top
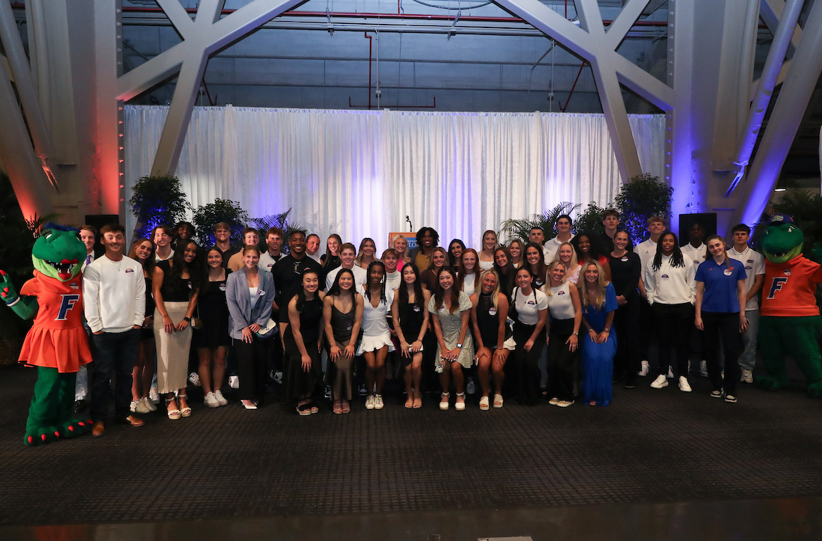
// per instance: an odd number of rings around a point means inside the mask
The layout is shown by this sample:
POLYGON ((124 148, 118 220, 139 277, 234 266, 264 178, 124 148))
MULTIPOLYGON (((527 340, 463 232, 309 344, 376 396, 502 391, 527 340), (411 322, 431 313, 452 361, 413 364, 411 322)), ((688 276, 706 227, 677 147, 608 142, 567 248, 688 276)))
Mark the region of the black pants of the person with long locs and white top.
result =
MULTIPOLYGON (((690 356, 690 327, 694 324, 694 305, 660 305, 653 303, 653 315, 659 327, 658 374, 667 376, 668 365, 677 377, 688 377, 688 357, 690 356), (677 352, 677 363, 671 362, 671 350, 677 352)), ((618 336, 618 332, 617 332, 618 336)))

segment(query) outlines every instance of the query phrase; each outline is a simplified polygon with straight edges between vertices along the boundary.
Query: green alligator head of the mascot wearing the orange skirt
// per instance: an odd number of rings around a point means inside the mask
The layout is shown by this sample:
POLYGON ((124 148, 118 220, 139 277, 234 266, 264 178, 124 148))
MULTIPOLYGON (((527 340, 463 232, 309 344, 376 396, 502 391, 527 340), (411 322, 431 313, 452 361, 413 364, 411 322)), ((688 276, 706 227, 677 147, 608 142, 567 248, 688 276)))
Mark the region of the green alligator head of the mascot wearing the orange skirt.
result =
POLYGON ((85 259, 85 244, 73 227, 47 223, 31 250, 35 268, 48 277, 68 282, 80 274, 85 259))

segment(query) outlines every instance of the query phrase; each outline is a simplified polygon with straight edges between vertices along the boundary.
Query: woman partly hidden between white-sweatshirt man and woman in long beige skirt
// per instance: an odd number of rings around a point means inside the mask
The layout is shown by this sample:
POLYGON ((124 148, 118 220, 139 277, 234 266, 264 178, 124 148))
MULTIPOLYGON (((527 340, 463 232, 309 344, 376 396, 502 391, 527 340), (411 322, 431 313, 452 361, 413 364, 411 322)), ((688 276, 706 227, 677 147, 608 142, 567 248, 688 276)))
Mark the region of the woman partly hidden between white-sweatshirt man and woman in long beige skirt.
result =
POLYGON ((140 330, 140 345, 132 371, 132 406, 134 413, 156 411, 157 406, 149 399, 151 379, 154 378, 156 342, 154 337, 154 296, 151 295, 151 279, 155 266, 155 245, 148 239, 137 239, 128 257, 140 262, 145 278, 145 319, 140 330))

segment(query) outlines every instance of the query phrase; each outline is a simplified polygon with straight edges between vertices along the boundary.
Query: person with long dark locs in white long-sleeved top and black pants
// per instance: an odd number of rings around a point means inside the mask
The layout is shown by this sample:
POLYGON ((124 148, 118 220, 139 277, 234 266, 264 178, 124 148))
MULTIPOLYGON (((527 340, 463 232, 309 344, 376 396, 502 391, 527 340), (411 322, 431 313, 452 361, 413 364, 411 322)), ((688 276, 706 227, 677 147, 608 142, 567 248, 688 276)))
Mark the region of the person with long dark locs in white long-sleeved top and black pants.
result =
POLYGON ((653 319, 659 328, 658 376, 651 383, 654 389, 667 387, 668 365, 679 377, 679 388, 690 392, 688 355, 690 353, 690 322, 694 321, 696 302, 696 268, 693 261, 682 257, 679 241, 673 232, 659 236, 657 251, 644 268, 642 281, 653 319), (672 351, 677 362, 672 363, 672 351))

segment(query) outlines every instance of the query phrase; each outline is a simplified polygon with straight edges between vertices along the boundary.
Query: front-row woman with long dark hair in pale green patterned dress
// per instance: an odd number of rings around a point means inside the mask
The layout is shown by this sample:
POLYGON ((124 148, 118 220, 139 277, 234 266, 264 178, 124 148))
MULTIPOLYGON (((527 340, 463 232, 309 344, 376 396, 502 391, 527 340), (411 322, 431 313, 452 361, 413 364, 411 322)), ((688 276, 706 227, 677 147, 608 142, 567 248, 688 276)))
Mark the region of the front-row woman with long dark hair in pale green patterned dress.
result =
POLYGON ((440 409, 448 409, 450 377, 454 376, 456 410, 465 409, 463 369, 473 364, 473 343, 468 332, 471 299, 456 287, 457 272, 444 267, 438 277, 436 293, 428 301, 436 335, 436 371, 440 374, 442 397, 440 409))

